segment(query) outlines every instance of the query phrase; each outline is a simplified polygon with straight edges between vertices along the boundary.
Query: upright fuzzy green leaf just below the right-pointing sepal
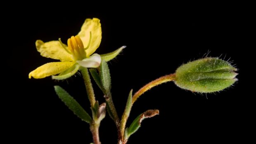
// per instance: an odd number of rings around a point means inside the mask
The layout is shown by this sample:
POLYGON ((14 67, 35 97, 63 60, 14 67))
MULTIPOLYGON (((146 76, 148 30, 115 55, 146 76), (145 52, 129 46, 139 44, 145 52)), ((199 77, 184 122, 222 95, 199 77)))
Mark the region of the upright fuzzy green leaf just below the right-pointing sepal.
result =
POLYGON ((104 90, 106 91, 105 94, 109 93, 111 89, 111 77, 107 62, 104 60, 102 60, 100 64, 100 80, 104 90))

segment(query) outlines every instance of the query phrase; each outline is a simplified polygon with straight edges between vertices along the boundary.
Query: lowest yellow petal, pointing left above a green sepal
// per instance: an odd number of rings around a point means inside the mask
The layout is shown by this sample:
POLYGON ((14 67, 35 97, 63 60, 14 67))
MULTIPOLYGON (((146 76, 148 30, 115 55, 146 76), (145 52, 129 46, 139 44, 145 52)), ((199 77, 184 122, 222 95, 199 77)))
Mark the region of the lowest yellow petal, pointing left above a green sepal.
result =
POLYGON ((75 64, 75 62, 50 62, 31 71, 28 74, 28 78, 45 78, 47 76, 56 75, 70 68, 73 64, 75 64))

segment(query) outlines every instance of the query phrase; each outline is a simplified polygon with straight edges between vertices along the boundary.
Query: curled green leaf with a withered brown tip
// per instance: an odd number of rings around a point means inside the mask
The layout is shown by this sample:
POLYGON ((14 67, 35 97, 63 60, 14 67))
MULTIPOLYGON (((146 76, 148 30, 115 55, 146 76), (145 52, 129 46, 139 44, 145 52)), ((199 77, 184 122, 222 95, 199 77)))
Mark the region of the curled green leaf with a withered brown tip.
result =
POLYGON ((155 109, 155 110, 147 110, 144 113, 137 116, 137 118, 133 120, 133 123, 128 127, 127 134, 126 134, 127 136, 125 135, 126 136, 125 139, 128 139, 130 135, 132 135, 134 132, 136 132, 140 128, 140 124, 142 120, 144 120, 145 118, 151 118, 158 114, 159 114, 159 110, 155 109))

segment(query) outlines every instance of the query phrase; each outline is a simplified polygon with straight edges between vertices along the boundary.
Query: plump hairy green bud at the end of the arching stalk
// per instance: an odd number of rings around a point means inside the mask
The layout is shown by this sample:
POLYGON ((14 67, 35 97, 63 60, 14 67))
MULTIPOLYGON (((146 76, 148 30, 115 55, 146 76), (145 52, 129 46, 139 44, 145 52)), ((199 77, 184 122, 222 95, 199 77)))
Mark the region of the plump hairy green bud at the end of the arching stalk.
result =
POLYGON ((207 57, 183 64, 176 70, 175 84, 192 92, 217 92, 237 81, 237 68, 228 61, 207 57))

